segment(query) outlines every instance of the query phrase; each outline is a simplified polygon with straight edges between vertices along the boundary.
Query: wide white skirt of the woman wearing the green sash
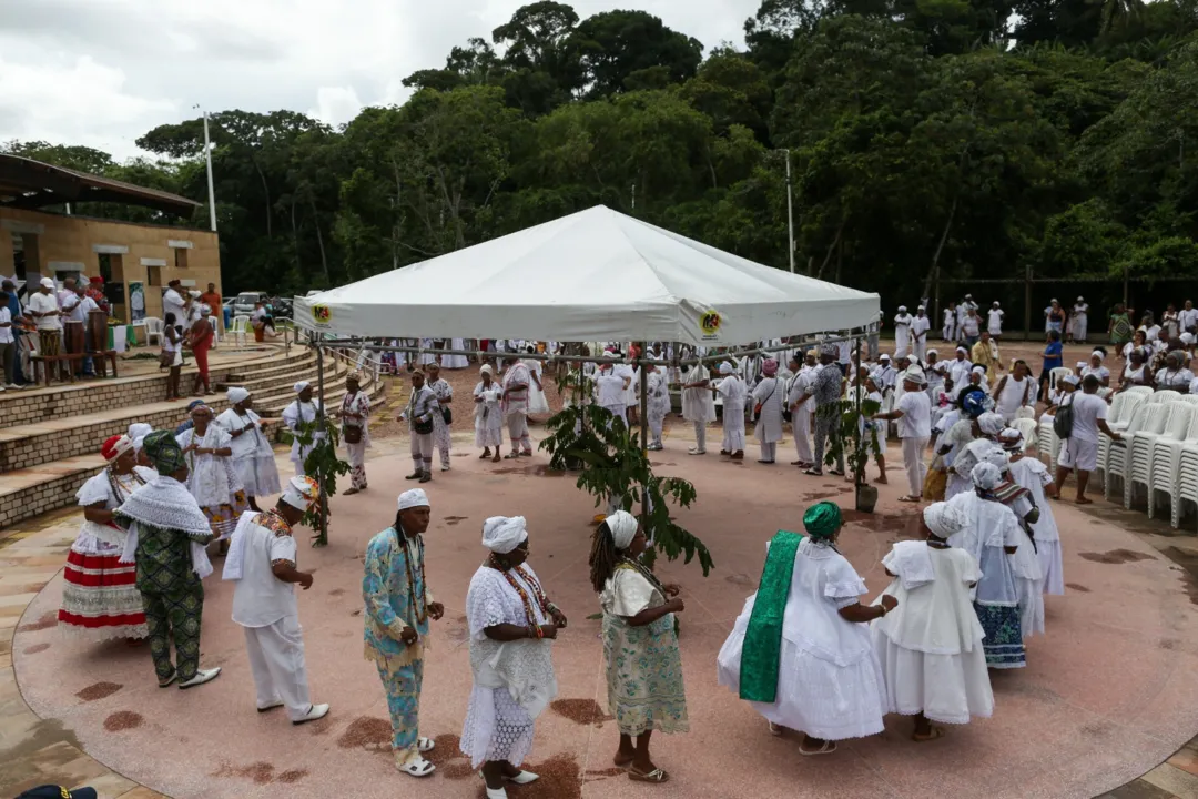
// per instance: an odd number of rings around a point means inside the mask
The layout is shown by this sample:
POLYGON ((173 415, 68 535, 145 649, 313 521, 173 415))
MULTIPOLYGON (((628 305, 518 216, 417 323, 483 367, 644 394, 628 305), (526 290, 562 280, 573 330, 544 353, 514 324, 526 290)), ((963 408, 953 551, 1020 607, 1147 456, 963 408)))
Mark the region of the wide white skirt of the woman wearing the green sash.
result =
MULTIPOLYGON (((718 659, 719 682, 740 690, 740 650, 749 615, 737 619, 718 659)), ((837 666, 782 638, 774 702, 750 702, 769 721, 813 738, 845 740, 882 732, 885 678, 878 659, 869 653, 854 664, 837 666)))

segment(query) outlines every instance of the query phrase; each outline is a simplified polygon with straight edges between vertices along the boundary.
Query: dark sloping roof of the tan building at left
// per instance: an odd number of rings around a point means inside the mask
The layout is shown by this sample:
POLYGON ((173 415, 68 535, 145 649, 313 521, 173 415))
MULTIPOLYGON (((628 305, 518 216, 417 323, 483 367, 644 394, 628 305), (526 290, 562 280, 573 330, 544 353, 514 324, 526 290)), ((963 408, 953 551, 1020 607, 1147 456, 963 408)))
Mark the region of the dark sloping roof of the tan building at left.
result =
POLYGON ((189 217, 200 205, 170 192, 0 153, 0 208, 41 208, 63 202, 123 202, 181 217, 189 217))

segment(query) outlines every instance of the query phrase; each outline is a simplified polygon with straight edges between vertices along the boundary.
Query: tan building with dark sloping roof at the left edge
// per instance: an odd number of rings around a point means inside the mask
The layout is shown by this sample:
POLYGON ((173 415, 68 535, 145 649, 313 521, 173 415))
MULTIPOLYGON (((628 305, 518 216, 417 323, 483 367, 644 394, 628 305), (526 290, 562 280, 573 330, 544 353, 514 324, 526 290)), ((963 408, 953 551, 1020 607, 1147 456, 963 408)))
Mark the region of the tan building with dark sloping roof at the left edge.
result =
MULTIPOLYGON (((98 274, 113 316, 126 322, 162 319, 162 295, 175 278, 199 291, 214 283, 220 292, 217 234, 184 224, 199 205, 176 194, 0 155, 0 276, 36 285, 43 277, 61 282, 98 274), (152 208, 168 224, 66 213, 86 202, 152 208), (169 224, 175 219, 177 224, 169 224)), ((220 309, 213 314, 219 317, 220 309)))

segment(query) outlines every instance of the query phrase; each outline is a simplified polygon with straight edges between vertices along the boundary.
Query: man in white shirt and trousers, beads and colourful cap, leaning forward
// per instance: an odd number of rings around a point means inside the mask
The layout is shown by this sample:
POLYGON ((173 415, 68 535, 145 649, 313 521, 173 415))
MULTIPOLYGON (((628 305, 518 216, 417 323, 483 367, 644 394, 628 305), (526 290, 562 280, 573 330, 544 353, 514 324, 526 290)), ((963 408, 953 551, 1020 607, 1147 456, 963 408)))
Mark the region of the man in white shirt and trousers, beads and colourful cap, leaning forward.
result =
POLYGON ((308 697, 303 630, 295 593, 297 583, 304 591, 311 588, 311 574, 296 568, 292 526, 319 500, 316 480, 292 477, 274 508, 242 514, 222 575, 237 583, 232 593, 232 621, 246 630, 258 712, 285 706, 294 725, 328 714, 327 704, 313 704, 308 697))

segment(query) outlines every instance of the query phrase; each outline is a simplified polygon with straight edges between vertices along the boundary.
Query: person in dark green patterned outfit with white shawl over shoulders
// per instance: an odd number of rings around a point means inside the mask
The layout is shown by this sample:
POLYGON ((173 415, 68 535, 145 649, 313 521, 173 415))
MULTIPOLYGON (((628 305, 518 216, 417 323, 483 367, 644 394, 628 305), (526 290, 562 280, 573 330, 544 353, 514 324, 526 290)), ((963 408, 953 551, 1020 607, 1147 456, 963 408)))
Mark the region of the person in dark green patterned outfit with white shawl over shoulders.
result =
POLYGON ((183 485, 187 458, 174 434, 151 432, 141 447, 158 477, 131 494, 114 514, 116 523, 128 529, 121 563, 137 563, 158 686, 179 680, 180 689, 195 688, 220 676, 219 666, 200 668, 201 580, 212 574, 204 547, 212 540, 212 526, 183 485), (171 643, 177 666, 170 659, 171 643))

